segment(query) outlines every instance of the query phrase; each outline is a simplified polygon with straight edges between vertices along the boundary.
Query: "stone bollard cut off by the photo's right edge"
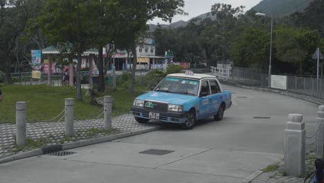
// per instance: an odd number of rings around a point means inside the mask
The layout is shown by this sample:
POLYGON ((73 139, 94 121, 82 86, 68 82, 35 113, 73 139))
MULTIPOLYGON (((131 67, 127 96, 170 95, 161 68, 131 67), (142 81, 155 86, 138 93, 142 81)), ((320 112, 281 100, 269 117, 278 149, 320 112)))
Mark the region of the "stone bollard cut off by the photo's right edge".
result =
POLYGON ((324 157, 324 105, 318 107, 316 121, 319 125, 316 132, 316 155, 324 157))

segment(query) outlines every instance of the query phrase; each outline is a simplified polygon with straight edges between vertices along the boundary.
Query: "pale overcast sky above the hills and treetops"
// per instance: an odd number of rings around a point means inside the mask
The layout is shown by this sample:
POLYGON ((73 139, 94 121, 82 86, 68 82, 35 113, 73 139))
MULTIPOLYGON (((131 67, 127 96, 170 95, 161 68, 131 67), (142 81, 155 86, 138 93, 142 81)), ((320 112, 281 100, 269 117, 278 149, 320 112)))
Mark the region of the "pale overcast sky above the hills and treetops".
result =
MULTIPOLYGON (((244 9, 249 10, 253 6, 257 5, 261 0, 185 0, 185 12, 188 12, 188 16, 180 16, 177 15, 172 19, 172 22, 183 20, 188 21, 193 17, 197 17, 198 15, 204 14, 205 12, 210 12, 210 8, 215 3, 226 3, 231 4, 233 7, 237 6, 245 6, 244 9)), ((149 24, 168 24, 161 19, 154 19, 150 21, 149 24)))

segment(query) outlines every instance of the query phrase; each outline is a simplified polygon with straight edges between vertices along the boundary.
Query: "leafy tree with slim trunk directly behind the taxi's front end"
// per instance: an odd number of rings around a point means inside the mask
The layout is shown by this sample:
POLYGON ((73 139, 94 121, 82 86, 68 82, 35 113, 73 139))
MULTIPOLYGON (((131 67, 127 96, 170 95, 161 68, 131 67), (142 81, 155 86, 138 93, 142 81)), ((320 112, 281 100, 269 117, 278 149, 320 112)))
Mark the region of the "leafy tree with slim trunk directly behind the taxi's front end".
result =
POLYGON ((137 64, 136 45, 138 38, 147 30, 147 21, 159 17, 163 21, 172 21, 172 17, 183 14, 181 8, 184 6, 183 0, 117 0, 119 2, 118 14, 122 29, 116 33, 116 42, 132 48, 133 64, 132 79, 129 85, 129 92, 134 92, 134 81, 137 64))

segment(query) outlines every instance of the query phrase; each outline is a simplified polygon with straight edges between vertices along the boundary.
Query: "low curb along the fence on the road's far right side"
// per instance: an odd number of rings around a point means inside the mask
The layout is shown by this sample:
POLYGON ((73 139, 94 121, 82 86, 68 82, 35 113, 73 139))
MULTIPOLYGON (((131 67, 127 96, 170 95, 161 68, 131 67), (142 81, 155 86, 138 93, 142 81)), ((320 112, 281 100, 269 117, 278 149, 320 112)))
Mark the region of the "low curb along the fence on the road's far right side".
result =
POLYGON ((323 105, 324 101, 320 101, 317 98, 314 98, 312 96, 307 96, 307 95, 303 95, 303 94, 296 94, 294 92, 287 92, 287 91, 282 91, 282 90, 277 90, 277 89, 266 89, 266 88, 260 88, 260 87, 250 87, 250 86, 245 86, 245 85, 237 85, 233 82, 229 82, 229 81, 224 81, 224 80, 219 80, 219 82, 222 82, 224 85, 232 85, 235 87, 241 87, 244 89, 255 89, 255 90, 259 90, 262 92, 270 92, 270 93, 274 93, 274 94, 281 94, 281 95, 285 95, 285 96, 291 96, 294 98, 298 98, 298 99, 302 99, 304 101, 308 101, 311 103, 315 103, 317 105, 323 105))

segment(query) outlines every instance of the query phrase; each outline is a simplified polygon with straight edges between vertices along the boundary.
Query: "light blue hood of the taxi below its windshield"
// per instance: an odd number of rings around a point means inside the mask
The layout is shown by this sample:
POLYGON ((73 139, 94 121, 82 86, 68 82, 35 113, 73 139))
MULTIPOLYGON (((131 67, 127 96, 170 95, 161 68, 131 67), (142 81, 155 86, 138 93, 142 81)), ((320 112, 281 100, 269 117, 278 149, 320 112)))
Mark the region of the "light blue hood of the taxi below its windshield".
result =
POLYGON ((148 92, 141 96, 138 96, 136 99, 143 101, 161 101, 164 103, 183 105, 192 98, 197 98, 197 96, 190 96, 185 94, 171 94, 166 92, 148 92))

